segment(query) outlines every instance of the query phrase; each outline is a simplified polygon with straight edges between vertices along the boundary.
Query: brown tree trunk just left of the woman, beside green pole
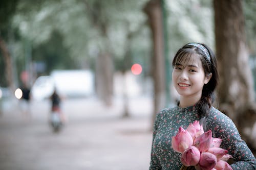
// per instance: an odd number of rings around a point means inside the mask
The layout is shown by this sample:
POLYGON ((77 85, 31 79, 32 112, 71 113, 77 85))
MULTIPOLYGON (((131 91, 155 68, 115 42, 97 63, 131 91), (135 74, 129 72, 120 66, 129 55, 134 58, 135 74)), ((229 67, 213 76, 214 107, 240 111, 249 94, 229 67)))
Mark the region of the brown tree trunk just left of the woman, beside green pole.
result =
POLYGON ((165 106, 165 60, 164 60, 164 39, 163 39, 163 20, 160 0, 151 0, 144 8, 144 12, 148 16, 148 22, 153 37, 153 79, 154 79, 154 113, 165 106))

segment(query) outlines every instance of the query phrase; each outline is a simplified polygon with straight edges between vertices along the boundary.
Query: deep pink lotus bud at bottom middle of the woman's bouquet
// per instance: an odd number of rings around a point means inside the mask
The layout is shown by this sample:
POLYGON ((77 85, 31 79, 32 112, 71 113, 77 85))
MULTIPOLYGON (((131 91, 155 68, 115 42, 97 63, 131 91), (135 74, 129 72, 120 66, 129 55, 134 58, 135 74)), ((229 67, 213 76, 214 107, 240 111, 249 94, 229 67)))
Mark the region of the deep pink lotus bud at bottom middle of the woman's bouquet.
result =
POLYGON ((209 170, 216 166, 217 158, 214 154, 209 152, 204 152, 200 156, 200 161, 198 165, 202 170, 209 170))

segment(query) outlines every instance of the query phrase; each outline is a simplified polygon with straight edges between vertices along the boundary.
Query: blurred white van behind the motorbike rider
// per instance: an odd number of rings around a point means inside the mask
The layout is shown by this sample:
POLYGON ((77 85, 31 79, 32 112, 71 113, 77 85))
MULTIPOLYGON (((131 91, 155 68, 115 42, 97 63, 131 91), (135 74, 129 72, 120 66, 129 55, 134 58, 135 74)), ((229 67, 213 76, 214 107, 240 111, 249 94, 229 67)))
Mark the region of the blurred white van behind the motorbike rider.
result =
POLYGON ((31 88, 33 99, 49 98, 54 88, 67 98, 87 97, 95 93, 91 70, 54 70, 50 76, 40 76, 31 88))

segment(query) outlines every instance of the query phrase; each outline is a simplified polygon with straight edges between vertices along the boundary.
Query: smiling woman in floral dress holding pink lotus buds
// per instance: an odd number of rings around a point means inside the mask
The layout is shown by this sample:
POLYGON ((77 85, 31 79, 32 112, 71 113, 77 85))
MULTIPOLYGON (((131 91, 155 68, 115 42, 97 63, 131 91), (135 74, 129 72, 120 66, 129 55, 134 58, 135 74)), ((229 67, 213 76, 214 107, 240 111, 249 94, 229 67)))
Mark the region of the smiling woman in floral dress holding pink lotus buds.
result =
POLYGON ((180 169, 181 154, 172 148, 172 137, 179 127, 187 128, 198 120, 204 132, 221 138, 220 148, 232 156, 232 169, 255 169, 256 159, 232 120, 212 106, 214 90, 218 84, 217 61, 208 46, 188 43, 181 47, 173 59, 172 79, 180 95, 177 106, 162 109, 153 129, 150 169, 180 169))

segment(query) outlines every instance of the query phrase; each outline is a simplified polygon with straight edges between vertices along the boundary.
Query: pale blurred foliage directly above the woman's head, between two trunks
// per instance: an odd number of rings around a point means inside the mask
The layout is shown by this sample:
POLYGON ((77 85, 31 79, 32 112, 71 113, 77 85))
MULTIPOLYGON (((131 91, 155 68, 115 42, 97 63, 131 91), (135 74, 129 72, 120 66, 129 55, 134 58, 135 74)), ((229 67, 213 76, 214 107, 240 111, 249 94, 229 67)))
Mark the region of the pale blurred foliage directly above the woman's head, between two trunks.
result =
POLYGON ((214 48, 214 16, 211 1, 166 1, 170 56, 188 42, 214 48))

